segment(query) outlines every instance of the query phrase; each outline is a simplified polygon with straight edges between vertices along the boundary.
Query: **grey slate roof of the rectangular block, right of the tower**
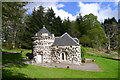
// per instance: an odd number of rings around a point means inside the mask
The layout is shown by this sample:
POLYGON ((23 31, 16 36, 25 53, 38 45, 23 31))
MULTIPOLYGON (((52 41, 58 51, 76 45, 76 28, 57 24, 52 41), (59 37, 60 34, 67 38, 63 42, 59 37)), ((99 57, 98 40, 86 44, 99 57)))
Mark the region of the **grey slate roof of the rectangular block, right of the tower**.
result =
POLYGON ((63 34, 61 37, 56 37, 53 43, 55 46, 79 46, 79 43, 74 40, 68 33, 63 34))

